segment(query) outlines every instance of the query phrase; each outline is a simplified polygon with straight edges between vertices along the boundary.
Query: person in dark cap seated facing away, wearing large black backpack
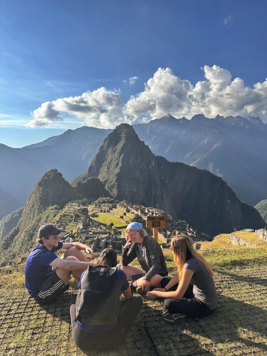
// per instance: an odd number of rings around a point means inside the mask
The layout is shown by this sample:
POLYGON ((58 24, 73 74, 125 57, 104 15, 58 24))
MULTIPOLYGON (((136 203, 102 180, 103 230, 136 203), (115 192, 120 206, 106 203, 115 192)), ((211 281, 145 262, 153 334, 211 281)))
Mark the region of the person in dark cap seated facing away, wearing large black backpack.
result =
POLYGON ((132 296, 125 273, 116 265, 116 252, 105 248, 96 266, 82 274, 79 292, 70 300, 72 337, 83 351, 119 346, 142 307, 142 298, 132 296))

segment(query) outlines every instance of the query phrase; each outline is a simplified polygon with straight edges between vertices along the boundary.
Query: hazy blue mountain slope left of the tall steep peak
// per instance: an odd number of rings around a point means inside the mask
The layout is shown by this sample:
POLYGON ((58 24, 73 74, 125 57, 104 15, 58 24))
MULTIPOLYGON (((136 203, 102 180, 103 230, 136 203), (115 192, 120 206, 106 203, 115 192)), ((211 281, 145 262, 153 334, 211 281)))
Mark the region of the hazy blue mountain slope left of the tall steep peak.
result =
POLYGON ((111 130, 83 126, 23 148, 0 144, 0 219, 25 205, 38 179, 57 168, 71 181, 85 172, 111 130))

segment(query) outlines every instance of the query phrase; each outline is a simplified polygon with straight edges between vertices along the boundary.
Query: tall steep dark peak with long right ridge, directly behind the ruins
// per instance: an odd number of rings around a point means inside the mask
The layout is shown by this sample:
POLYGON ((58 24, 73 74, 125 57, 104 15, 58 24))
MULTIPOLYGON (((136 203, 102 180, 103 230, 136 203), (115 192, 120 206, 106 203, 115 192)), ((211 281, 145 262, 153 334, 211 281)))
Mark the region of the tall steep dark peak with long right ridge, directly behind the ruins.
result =
POLYGON ((258 211, 241 203, 223 179, 153 155, 128 124, 117 126, 104 140, 87 177, 99 177, 115 199, 159 207, 213 236, 265 225, 258 211))

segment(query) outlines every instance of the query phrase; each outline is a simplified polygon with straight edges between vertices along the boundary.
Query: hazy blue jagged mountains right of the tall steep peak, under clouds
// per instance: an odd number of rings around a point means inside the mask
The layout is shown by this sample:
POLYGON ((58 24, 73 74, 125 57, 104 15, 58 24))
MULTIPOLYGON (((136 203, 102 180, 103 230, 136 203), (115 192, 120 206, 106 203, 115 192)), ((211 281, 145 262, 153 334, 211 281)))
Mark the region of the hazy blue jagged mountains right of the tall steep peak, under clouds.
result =
POLYGON ((155 155, 222 177, 250 205, 267 198, 267 125, 259 117, 166 115, 133 125, 155 155))

